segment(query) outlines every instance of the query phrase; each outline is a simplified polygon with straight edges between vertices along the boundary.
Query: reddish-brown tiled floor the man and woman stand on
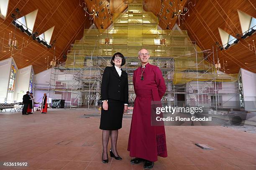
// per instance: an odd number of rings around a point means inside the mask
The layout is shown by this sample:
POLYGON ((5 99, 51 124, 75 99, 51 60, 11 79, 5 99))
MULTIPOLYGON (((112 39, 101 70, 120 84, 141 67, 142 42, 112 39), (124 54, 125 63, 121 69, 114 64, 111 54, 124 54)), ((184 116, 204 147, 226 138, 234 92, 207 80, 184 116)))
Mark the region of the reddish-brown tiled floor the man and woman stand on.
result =
MULTIPOLYGON (((131 120, 119 130, 122 161, 101 162, 100 119, 80 117, 97 110, 49 109, 47 114, 0 113, 0 162, 28 162, 23 169, 143 170, 131 165, 127 149, 131 120)), ((256 170, 256 134, 218 126, 166 126, 168 157, 158 170, 256 170), (202 150, 204 143, 214 150, 202 150)), ((110 144, 109 144, 110 148, 110 144)), ((3 170, 17 170, 6 168, 3 170)))

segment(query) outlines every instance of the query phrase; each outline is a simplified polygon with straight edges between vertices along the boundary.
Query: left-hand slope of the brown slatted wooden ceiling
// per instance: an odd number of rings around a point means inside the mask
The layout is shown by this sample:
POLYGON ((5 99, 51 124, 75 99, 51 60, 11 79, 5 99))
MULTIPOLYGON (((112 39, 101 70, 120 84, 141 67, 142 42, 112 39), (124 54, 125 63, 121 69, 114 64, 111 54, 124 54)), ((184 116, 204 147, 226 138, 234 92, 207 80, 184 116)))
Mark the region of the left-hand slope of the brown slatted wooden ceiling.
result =
MULTIPOLYGON (((15 26, 11 23, 13 18, 10 15, 16 14, 16 7, 20 10, 19 17, 38 9, 33 29, 34 32, 39 32, 38 35, 55 26, 50 43, 56 40, 55 56, 60 61, 64 61, 63 55, 69 50, 70 44, 75 39, 81 39, 84 27, 90 27, 90 21, 84 16, 79 0, 10 0, 6 19, 0 18, 0 37, 2 38, 5 33, 4 43, 8 44, 9 33, 15 31, 19 49, 23 37, 25 42, 28 41, 28 46, 23 48, 21 55, 17 50, 13 55, 19 69, 32 64, 35 73, 46 70, 45 57, 49 56, 49 60, 53 59, 54 47, 48 49, 26 35, 25 32, 15 30, 15 26)), ((7 48, 3 49, 4 52, 2 51, 2 44, 0 50, 0 60, 10 57, 11 54, 7 48)))

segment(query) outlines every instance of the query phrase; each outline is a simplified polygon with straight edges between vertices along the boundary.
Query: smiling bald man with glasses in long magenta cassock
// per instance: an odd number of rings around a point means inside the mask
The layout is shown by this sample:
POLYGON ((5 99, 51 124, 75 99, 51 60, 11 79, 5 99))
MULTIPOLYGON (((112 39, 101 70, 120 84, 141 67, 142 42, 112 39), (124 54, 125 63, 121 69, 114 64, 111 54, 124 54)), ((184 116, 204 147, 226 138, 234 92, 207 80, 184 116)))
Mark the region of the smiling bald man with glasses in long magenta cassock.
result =
POLYGON ((141 49, 138 59, 141 67, 133 72, 136 99, 128 141, 132 164, 145 161, 144 168, 153 168, 157 156, 167 157, 164 126, 151 125, 151 101, 161 101, 166 85, 159 67, 148 63, 149 52, 141 49))

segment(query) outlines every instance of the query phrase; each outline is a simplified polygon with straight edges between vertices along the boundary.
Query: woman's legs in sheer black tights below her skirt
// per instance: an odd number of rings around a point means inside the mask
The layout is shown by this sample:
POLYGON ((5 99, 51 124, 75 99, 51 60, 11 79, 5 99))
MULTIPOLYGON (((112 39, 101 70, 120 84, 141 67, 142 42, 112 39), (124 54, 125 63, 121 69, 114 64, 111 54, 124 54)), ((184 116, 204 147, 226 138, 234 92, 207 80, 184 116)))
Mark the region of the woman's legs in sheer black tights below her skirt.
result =
POLYGON ((118 156, 116 150, 116 143, 118 138, 118 130, 102 130, 102 146, 103 146, 103 155, 102 159, 108 159, 108 140, 111 138, 111 151, 115 156, 118 156))

